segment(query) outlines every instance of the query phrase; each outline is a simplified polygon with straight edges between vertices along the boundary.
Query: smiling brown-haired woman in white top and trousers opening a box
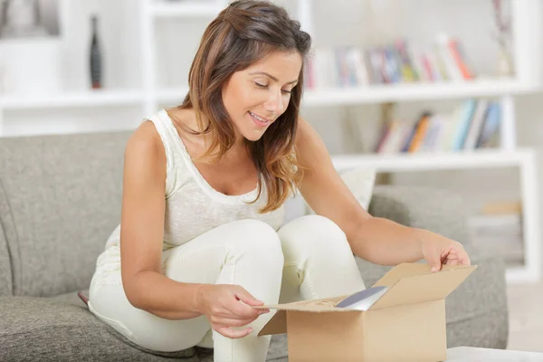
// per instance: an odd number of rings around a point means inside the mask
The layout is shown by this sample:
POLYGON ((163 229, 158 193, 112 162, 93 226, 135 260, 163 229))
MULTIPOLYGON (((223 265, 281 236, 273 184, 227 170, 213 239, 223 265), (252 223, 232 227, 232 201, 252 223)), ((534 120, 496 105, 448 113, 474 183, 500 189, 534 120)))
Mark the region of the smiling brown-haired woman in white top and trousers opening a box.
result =
POLYGON ((310 36, 280 7, 236 1, 205 30, 183 104, 129 139, 121 221, 90 310, 139 346, 263 361, 270 310, 365 288, 353 257, 469 264, 460 243, 367 214, 299 118, 310 36), (296 189, 317 215, 281 226, 296 189), (122 265, 122 268, 121 268, 122 265))

